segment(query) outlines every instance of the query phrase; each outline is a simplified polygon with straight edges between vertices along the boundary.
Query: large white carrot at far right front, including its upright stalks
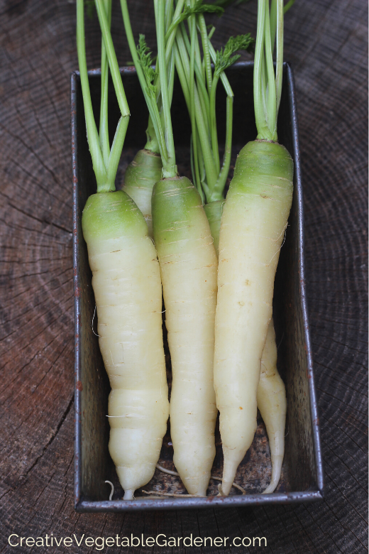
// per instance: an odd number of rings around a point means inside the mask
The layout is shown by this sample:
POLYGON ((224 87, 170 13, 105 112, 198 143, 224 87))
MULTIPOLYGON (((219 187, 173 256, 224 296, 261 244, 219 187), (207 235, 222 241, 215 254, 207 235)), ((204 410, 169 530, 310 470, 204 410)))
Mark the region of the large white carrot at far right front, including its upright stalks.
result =
POLYGON ((221 218, 214 387, 224 452, 221 494, 225 495, 255 434, 260 361, 272 317, 277 261, 292 204, 293 162, 286 148, 277 143, 282 26, 283 2, 277 0, 275 77, 269 3, 258 0, 254 66, 258 136, 238 155, 221 218))

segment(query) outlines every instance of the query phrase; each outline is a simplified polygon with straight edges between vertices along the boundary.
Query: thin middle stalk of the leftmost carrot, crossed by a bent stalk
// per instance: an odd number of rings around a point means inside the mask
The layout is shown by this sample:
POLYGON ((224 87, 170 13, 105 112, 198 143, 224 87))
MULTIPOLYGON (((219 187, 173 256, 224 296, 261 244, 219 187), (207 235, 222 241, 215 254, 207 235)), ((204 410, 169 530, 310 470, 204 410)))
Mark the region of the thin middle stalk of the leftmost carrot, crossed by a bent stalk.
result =
MULTIPOLYGON (((104 0, 104 9, 108 18, 109 28, 111 26, 111 0, 104 0)), ((101 104, 100 104, 100 125, 99 139, 102 156, 105 167, 108 167, 110 144, 109 144, 109 126, 108 126, 108 85, 109 85, 109 65, 106 55, 104 38, 101 40, 101 104)))

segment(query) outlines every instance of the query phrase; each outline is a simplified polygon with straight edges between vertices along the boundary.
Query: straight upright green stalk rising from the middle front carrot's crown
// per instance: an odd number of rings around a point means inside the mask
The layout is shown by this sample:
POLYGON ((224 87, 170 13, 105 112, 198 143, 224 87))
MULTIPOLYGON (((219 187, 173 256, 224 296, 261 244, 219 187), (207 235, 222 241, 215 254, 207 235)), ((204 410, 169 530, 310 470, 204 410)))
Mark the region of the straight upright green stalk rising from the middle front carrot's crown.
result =
POLYGON ((165 4, 163 0, 154 0, 156 37, 158 41, 158 66, 160 72, 163 114, 165 124, 165 144, 167 159, 163 160, 163 177, 170 178, 177 175, 175 165, 175 143, 173 140, 172 120, 170 117, 170 99, 168 96, 167 67, 165 64, 165 4))

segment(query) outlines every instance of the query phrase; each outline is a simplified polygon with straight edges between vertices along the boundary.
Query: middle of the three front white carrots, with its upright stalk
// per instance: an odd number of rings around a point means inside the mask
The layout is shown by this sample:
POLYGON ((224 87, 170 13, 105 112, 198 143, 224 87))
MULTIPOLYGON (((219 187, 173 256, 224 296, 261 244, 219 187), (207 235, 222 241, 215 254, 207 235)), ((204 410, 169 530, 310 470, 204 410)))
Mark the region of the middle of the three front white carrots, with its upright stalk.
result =
MULTIPOLYGON (((213 386, 216 253, 202 199, 177 175, 165 58, 164 0, 155 0, 163 102, 163 178, 153 188, 153 232, 172 360, 170 433, 175 467, 190 494, 205 496, 215 456, 213 386)), ((157 119, 160 122, 160 119, 157 119)))

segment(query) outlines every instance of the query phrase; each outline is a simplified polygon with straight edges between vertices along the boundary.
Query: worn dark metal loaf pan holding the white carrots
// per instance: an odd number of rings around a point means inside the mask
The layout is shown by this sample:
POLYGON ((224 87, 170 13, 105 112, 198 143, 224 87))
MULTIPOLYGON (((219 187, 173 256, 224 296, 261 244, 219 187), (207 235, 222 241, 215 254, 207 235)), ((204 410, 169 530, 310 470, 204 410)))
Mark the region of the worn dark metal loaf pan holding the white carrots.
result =
MULTIPOLYGON (((253 63, 238 63, 228 70, 233 87, 233 165, 237 152, 247 141, 255 139, 253 112, 253 63)), ((148 112, 145 107, 136 71, 131 67, 121 70, 131 121, 117 175, 117 188, 123 171, 136 151, 145 144, 148 112)), ((99 120, 100 71, 89 72, 95 116, 99 120)), ((121 500, 123 491, 116 477, 108 451, 109 423, 107 401, 109 381, 99 352, 94 318, 94 293, 87 259, 87 246, 82 236, 81 217, 89 195, 96 192, 92 161, 86 138, 84 109, 79 74, 72 74, 72 170, 73 170, 73 224, 75 270, 75 509, 88 511, 135 511, 148 509, 205 508, 209 506, 246 506, 253 504, 292 504, 322 498, 323 469, 319 441, 319 420, 312 368, 312 350, 309 339, 307 304, 304 283, 304 211, 299 162, 299 139, 292 70, 284 67, 284 81, 278 124, 279 139, 294 158, 294 197, 285 244, 275 279, 273 313, 277 334, 278 369, 287 389, 287 424, 285 460, 282 478, 273 494, 260 494, 270 479, 270 452, 263 421, 258 417, 255 440, 238 468, 236 482, 246 488, 242 495, 232 489, 230 496, 216 496, 217 482, 211 482, 206 498, 184 496, 149 499, 142 491, 134 501, 121 500), (115 494, 109 501, 114 482, 115 494)), ((219 83, 217 109, 219 136, 225 136, 224 92, 219 83)), ((119 107, 110 86, 109 126, 114 135, 119 119, 119 107)), ((190 124, 187 109, 178 82, 172 103, 172 120, 180 173, 190 177, 190 124)), ((163 326, 165 331, 165 326, 163 326)), ((170 383, 170 357, 167 355, 167 373, 170 383)), ((160 464, 175 469, 172 464, 170 429, 163 440, 160 464)), ((222 454, 219 430, 216 431, 216 458, 213 474, 221 476, 222 454)), ((178 477, 155 472, 145 490, 185 494, 178 477)))

